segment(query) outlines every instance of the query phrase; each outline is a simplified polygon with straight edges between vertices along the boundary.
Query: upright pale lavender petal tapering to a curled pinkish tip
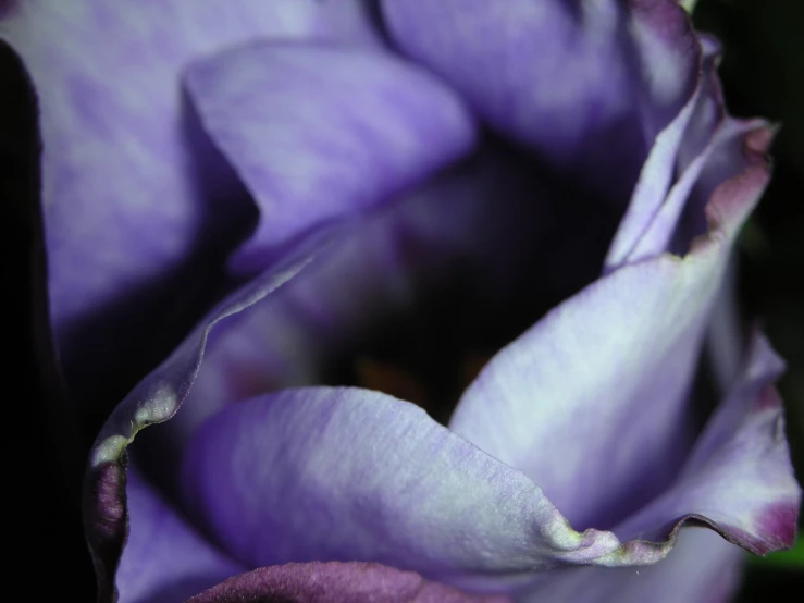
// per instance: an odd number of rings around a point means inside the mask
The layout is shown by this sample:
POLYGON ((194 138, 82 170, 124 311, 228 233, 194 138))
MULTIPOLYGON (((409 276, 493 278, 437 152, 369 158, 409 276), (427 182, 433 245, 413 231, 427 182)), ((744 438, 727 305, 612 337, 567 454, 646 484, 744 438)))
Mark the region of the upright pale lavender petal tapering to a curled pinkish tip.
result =
MULTIPOLYGON (((750 136, 750 137, 753 137, 750 136)), ((604 276, 504 348, 450 428, 517 467, 579 527, 611 527, 666 488, 689 451, 685 404, 731 244, 767 181, 752 153, 678 258, 604 276)))

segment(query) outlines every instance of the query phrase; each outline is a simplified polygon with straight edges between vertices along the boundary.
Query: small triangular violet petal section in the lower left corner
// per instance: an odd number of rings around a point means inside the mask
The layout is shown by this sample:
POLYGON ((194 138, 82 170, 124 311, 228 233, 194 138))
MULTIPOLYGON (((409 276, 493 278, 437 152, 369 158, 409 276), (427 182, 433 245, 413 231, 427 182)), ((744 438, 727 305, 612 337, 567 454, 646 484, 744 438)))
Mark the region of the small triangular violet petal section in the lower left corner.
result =
POLYGON ((128 540, 117 568, 120 603, 173 603, 247 568, 189 526, 135 469, 126 476, 128 540))

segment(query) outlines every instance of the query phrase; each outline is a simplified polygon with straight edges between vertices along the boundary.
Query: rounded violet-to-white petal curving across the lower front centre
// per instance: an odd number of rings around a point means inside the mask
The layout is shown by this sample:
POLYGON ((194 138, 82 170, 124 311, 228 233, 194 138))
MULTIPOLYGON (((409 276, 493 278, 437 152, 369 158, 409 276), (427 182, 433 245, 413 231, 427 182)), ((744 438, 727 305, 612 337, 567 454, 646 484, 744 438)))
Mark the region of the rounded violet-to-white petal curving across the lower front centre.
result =
POLYGON ((540 489, 421 408, 348 387, 230 405, 183 458, 183 500, 252 566, 374 561, 452 581, 616 551, 572 531, 540 489))

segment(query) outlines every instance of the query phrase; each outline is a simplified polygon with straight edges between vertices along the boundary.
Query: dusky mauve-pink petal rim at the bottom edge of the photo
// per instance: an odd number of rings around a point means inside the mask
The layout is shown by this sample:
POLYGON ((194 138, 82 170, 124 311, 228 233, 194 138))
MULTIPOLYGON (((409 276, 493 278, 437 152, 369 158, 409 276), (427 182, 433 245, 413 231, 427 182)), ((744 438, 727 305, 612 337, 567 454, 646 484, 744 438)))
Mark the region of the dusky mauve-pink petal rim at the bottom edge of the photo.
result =
POLYGON ((188 603, 505 603, 462 593, 410 571, 373 563, 306 563, 261 567, 230 578, 188 603))

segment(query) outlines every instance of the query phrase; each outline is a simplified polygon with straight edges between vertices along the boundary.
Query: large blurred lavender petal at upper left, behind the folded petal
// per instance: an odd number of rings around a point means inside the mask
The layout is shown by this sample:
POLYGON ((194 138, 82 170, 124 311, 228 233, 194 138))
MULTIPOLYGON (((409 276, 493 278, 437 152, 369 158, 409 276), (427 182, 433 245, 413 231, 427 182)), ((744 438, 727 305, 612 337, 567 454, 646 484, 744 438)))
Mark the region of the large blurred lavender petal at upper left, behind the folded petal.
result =
POLYGON ((214 284, 249 217, 188 111, 181 70, 258 36, 376 44, 367 20, 351 0, 26 0, 0 24, 39 94, 51 313, 82 402, 123 358, 141 362, 154 323, 163 336, 191 325, 219 294, 195 279, 198 262, 214 284))

